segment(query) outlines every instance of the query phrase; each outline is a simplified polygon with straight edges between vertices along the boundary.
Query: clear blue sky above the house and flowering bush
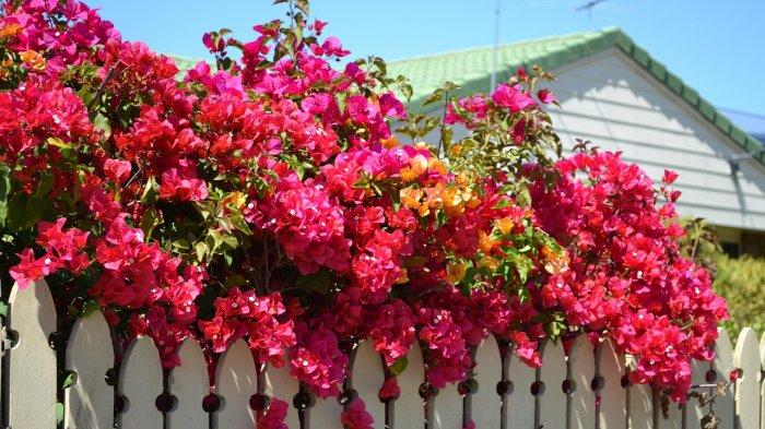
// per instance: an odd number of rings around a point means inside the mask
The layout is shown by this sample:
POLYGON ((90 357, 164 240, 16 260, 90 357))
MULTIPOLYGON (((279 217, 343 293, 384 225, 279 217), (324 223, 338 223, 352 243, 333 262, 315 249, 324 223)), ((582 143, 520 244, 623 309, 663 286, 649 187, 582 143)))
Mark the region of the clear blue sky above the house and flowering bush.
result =
MULTIPOLYGON (((205 57, 201 35, 283 17, 269 0, 85 0, 127 39, 205 57)), ((616 25, 711 103, 765 115, 765 1, 608 0, 591 19, 586 0, 501 0, 501 40, 516 41, 616 25)), ((492 45, 495 0, 314 0, 353 57, 387 60, 492 45)))

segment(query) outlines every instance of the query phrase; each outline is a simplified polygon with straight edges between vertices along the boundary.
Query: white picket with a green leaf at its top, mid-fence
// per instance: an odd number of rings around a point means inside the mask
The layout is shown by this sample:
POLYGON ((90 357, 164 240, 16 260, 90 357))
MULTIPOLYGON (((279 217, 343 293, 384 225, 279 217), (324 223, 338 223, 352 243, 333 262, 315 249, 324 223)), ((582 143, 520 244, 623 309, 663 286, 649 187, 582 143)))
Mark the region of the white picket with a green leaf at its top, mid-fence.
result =
POLYGON ((422 349, 414 342, 407 355, 409 365, 399 376, 401 395, 393 402, 393 428, 422 428, 425 421, 425 403, 420 396, 420 385, 425 380, 425 366, 422 360, 422 349))

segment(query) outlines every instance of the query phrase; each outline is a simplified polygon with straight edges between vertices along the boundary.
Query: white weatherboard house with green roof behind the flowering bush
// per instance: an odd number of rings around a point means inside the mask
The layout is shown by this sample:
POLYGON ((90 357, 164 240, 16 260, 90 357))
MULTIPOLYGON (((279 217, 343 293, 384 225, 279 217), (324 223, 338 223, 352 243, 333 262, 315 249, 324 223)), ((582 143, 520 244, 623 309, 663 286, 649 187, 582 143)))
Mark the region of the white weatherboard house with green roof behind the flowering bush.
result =
MULTIPOLYGON (((589 140, 619 151, 655 180, 680 174, 681 215, 713 224, 732 254, 765 253, 765 152, 762 143, 617 28, 577 33, 497 48, 497 82, 522 65, 552 71, 562 108, 551 107, 565 144, 589 140)), ((456 95, 487 92, 494 47, 393 61, 391 75, 412 81, 410 106, 445 81, 456 95)), ((437 110, 433 114, 437 115, 437 110)))

